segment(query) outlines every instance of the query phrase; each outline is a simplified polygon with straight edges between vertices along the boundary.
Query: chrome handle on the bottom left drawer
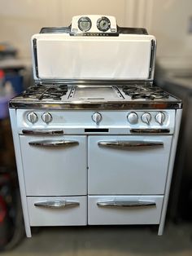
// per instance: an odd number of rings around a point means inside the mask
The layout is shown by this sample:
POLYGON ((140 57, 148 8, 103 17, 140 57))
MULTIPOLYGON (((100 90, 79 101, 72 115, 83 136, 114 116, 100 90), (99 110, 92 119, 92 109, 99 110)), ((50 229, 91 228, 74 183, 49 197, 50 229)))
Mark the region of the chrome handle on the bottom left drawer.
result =
POLYGON ((39 201, 34 205, 44 208, 67 208, 78 206, 80 203, 78 201, 39 201))

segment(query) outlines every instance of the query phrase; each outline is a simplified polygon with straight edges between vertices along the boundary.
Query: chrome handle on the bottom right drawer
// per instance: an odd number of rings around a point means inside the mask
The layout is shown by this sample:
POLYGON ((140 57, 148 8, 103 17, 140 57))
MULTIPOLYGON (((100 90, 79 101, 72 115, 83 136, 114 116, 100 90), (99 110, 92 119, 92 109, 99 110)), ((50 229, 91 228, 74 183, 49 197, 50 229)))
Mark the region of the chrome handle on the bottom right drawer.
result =
POLYGON ((140 206, 155 206, 155 201, 98 201, 98 206, 101 207, 140 207, 140 206))

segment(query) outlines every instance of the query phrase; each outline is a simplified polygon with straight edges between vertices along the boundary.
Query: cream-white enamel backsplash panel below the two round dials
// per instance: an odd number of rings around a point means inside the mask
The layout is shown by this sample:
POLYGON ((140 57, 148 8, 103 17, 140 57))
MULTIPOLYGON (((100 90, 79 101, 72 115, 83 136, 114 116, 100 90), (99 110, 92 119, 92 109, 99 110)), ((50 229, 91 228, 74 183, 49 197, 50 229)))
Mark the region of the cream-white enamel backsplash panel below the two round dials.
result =
MULTIPOLYGON (((41 79, 148 79, 153 36, 37 34, 41 79)), ((34 65, 33 65, 34 68, 34 65)))

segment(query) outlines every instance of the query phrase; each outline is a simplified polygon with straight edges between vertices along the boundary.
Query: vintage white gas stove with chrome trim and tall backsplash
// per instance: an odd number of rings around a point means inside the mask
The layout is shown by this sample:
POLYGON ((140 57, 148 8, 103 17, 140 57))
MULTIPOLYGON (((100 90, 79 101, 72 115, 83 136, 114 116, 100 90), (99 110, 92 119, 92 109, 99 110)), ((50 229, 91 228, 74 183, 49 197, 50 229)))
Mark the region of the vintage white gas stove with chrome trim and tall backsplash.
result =
POLYGON ((33 226, 164 230, 181 100, 153 85, 155 37, 112 16, 33 35, 33 87, 10 115, 27 236, 33 226))

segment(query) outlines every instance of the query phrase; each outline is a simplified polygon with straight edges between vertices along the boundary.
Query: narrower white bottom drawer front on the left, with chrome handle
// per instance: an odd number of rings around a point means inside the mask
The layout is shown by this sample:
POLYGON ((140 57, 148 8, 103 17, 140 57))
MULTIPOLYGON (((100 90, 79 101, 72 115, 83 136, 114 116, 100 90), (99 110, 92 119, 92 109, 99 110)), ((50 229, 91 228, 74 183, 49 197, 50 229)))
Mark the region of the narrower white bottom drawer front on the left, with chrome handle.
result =
POLYGON ((73 226, 87 224, 86 196, 28 197, 31 226, 73 226))

